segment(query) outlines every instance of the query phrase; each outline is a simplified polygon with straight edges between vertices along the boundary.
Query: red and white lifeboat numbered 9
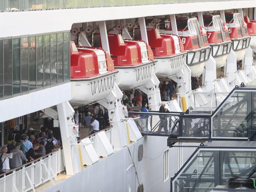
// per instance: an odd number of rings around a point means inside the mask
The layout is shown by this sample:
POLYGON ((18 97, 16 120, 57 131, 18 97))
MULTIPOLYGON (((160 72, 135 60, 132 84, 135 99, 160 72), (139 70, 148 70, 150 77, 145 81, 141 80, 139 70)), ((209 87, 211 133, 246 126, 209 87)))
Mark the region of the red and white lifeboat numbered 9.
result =
MULTIPOLYGON (((206 30, 200 26, 196 17, 176 18, 178 35, 187 51, 187 65, 191 69, 191 76, 200 76, 204 65, 209 60, 211 47, 208 44, 206 30)), ((171 26, 168 30, 161 30, 163 34, 172 34, 171 26)))

